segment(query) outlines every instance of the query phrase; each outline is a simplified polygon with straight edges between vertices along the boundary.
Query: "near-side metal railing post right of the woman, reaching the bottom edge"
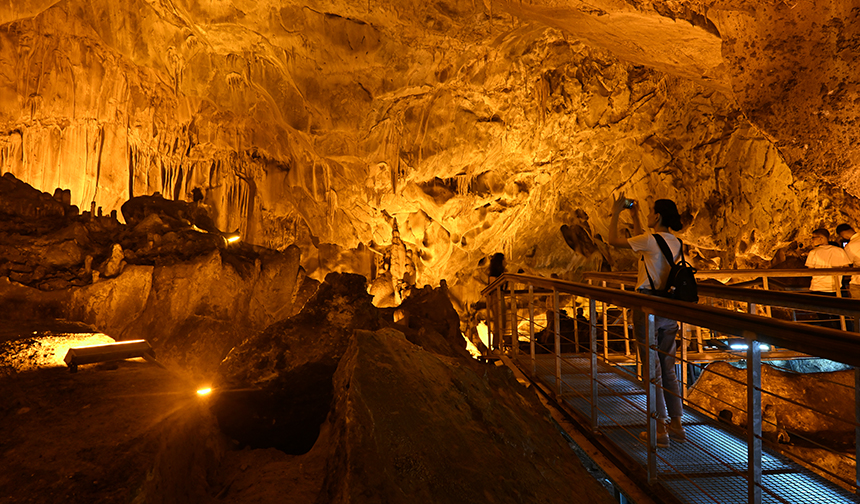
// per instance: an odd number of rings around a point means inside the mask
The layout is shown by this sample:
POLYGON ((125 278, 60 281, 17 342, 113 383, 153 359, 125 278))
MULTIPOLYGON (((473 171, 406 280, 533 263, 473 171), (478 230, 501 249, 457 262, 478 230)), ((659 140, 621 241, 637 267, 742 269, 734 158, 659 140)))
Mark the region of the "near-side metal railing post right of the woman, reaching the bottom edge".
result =
MULTIPOLYGON (((750 309, 755 309, 752 305, 750 309)), ((747 336, 747 502, 761 504, 761 346, 747 336)))

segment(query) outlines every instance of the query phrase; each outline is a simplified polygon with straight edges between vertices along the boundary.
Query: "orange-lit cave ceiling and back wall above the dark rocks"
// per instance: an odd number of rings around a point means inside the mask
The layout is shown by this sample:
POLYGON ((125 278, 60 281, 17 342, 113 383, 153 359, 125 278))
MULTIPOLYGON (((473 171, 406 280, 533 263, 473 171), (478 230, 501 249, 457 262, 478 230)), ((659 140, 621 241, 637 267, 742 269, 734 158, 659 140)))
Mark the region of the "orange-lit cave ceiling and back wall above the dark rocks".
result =
POLYGON ((543 274, 630 268, 601 238, 620 193, 675 199, 698 265, 761 266, 860 217, 858 16, 844 0, 2 0, 0 170, 81 210, 201 188, 221 229, 309 256, 390 243, 396 221, 419 284, 496 251, 543 274))

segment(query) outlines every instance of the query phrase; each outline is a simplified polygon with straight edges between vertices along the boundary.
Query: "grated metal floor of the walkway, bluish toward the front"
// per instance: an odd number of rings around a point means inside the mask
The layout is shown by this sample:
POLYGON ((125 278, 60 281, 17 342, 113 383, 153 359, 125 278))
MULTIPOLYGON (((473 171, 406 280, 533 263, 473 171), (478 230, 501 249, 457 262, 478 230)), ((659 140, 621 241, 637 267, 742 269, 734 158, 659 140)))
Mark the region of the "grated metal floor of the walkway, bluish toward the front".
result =
MULTIPOLYGON (((531 374, 529 355, 518 356, 517 364, 531 374)), ((590 365, 588 354, 564 354, 560 394, 556 394, 557 400, 582 419, 592 415, 590 365)), ((557 390, 555 366, 555 355, 535 356, 534 376, 553 391, 557 390)), ((639 433, 647 428, 645 391, 635 376, 624 376, 600 361, 597 366, 600 433, 630 461, 644 466, 648 449, 639 433)), ((683 503, 746 503, 746 439, 689 408, 683 423, 687 442, 672 442, 669 448, 657 450, 659 484, 683 503), (715 447, 719 454, 712 452, 715 447)), ((767 449, 762 450, 761 465, 763 503, 860 503, 858 496, 767 449)))

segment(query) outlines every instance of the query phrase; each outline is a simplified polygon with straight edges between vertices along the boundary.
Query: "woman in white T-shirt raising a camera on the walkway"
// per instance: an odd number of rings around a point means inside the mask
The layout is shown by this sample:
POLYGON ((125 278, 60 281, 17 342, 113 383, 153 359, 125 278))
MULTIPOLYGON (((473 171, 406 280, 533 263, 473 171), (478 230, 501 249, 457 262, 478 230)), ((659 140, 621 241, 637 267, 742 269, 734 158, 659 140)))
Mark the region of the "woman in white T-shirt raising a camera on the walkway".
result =
MULTIPOLYGON (((609 244, 619 248, 629 248, 641 254, 639 274, 636 282, 637 292, 653 295, 655 290, 662 289, 669 276, 669 263, 663 255, 657 238, 644 232, 639 220, 639 205, 635 200, 623 196, 612 205, 612 220, 609 223, 609 244), (625 209, 631 211, 633 218, 633 233, 631 238, 619 236, 618 218, 625 209)), ((670 231, 681 230, 681 216, 675 202, 669 199, 658 199, 648 214, 647 226, 665 240, 672 252, 672 259, 677 262, 681 257, 681 241, 670 231)), ((647 341, 647 319, 639 310, 633 313, 633 331, 640 345, 647 341)), ((684 415, 684 405, 681 400, 681 388, 675 373, 675 351, 678 335, 678 323, 674 320, 655 317, 657 331, 657 361, 651 363, 651 376, 657 384, 657 446, 667 448, 669 439, 683 443, 687 440, 681 417, 684 415)), ((647 433, 639 435, 647 439, 647 433)))

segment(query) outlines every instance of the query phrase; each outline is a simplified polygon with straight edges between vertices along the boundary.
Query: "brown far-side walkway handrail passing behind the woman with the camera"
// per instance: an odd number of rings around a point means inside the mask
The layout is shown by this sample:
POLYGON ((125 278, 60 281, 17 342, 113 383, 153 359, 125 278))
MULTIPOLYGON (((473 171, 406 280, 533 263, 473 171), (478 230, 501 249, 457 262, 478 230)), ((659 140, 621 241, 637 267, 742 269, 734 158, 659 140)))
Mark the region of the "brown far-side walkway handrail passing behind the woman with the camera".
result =
MULTIPOLYGON (((844 268, 840 268, 844 269, 844 268)), ((633 273, 635 275, 635 273, 633 273)), ((698 273, 697 273, 698 276, 698 273)), ((613 283, 629 283, 629 272, 606 273, 589 272, 586 278, 613 283)), ((764 289, 749 289, 746 287, 732 287, 731 285, 713 285, 700 283, 699 294, 720 299, 732 299, 746 303, 755 303, 784 308, 795 308, 798 310, 820 311, 845 315, 847 317, 860 316, 860 299, 843 297, 821 296, 819 294, 774 291, 764 289)))

